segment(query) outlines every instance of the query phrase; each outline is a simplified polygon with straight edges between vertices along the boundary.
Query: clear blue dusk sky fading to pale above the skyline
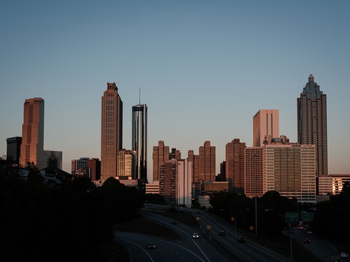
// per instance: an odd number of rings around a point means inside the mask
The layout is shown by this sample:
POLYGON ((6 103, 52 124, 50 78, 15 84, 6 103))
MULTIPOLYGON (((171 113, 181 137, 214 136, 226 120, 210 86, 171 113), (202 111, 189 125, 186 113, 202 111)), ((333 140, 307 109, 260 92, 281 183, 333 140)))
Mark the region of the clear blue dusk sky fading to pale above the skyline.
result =
POLYGON ((1 0, 0 156, 21 136, 23 103, 41 97, 44 150, 100 158, 101 96, 148 107, 147 163, 158 141, 198 154, 216 147, 216 173, 234 138, 252 145, 252 117, 279 110, 296 142, 296 98, 309 74, 327 95, 328 173, 350 174, 350 1, 1 0))

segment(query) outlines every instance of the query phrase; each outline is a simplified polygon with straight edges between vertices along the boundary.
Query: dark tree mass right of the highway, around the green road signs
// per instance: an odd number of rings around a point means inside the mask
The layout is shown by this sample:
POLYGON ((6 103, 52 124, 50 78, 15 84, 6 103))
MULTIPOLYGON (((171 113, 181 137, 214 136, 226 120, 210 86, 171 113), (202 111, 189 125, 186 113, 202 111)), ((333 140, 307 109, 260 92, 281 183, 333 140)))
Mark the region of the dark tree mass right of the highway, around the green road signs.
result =
MULTIPOLYGON (((272 239, 279 239, 285 223, 285 212, 298 212, 301 221, 302 212, 313 212, 313 221, 309 224, 312 232, 334 241, 349 244, 350 227, 350 183, 345 182, 339 195, 330 196, 329 201, 317 204, 297 203, 296 199, 280 196, 276 191, 266 192, 256 199, 257 234, 272 239)), ((255 234, 255 198, 249 199, 244 194, 221 191, 210 197, 210 211, 236 226, 255 234), (250 231, 250 227, 253 230, 250 231)))

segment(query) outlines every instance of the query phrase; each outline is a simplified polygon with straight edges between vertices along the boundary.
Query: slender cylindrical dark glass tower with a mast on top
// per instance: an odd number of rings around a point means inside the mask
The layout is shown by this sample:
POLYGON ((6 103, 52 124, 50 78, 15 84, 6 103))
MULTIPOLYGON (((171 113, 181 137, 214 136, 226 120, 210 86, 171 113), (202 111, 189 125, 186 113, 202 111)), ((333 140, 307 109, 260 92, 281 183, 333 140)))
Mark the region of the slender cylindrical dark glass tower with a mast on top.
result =
POLYGON ((131 148, 136 152, 136 179, 147 182, 147 106, 132 107, 131 148))

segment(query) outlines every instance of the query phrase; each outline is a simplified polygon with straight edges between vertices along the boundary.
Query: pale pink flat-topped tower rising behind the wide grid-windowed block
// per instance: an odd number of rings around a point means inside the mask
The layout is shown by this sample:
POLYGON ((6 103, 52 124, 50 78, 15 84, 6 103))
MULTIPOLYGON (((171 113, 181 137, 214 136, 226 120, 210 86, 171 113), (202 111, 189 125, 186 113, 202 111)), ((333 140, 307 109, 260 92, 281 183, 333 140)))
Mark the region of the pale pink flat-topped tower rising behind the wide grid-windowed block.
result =
POLYGON ((264 136, 279 136, 278 110, 260 109, 253 116, 253 147, 263 146, 264 136))

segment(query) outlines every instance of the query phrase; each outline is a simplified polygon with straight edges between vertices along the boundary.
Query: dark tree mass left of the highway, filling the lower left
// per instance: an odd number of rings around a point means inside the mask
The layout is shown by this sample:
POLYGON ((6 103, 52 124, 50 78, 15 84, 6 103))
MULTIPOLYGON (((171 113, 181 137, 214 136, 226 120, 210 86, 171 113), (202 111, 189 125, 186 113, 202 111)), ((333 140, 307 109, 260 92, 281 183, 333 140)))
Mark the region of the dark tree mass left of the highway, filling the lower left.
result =
POLYGON ((139 191, 113 178, 98 188, 84 177, 50 188, 35 169, 24 180, 1 164, 0 261, 103 261, 113 224, 143 205, 139 191))

